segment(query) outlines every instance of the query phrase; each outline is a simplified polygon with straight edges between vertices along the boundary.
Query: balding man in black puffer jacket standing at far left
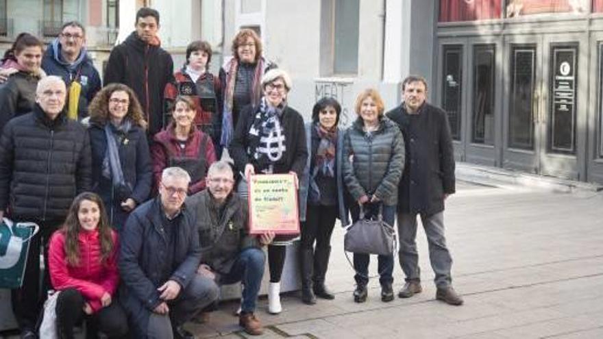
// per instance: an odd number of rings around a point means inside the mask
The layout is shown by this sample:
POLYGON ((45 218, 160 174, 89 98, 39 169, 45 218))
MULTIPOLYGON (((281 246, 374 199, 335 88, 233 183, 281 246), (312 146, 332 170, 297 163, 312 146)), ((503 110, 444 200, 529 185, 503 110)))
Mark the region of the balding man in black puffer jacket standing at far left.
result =
POLYGON ((48 241, 64 222, 76 194, 90 190, 90 142, 86 128, 66 117, 65 83, 51 75, 38 81, 36 104, 9 121, 0 138, 0 219, 34 222, 23 286, 12 291, 21 338, 36 338, 42 302, 51 288, 48 271, 40 291, 40 244, 48 267, 48 241))

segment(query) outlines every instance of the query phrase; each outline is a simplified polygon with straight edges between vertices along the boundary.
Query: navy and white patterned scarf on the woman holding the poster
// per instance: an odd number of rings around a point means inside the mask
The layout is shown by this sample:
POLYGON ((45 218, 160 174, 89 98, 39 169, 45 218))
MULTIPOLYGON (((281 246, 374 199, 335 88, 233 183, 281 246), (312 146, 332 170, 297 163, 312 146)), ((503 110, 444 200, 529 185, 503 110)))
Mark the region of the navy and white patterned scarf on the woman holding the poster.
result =
POLYGON ((283 101, 278 107, 272 107, 262 97, 260 109, 249 129, 249 134, 257 140, 251 151, 261 171, 271 168, 272 164, 283 158, 286 151, 285 136, 280 123, 285 105, 283 101))

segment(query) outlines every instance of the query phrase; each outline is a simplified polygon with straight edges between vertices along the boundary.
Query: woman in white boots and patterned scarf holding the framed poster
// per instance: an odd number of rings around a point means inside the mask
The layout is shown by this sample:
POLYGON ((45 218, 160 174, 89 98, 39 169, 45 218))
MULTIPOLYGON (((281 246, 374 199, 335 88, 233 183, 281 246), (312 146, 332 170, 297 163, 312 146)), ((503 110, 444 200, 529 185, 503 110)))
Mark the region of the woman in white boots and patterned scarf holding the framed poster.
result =
MULTIPOLYGON (((291 78, 281 69, 272 69, 262 77, 262 90, 264 97, 258 105, 248 105, 241 111, 228 152, 243 178, 252 174, 292 173, 297 181, 304 172, 308 149, 304 118, 286 101, 291 78)), ((239 190, 239 194, 245 197, 247 192, 239 190)), ((268 310, 272 314, 282 310, 279 294, 286 245, 296 237, 279 235, 268 245, 268 310)))

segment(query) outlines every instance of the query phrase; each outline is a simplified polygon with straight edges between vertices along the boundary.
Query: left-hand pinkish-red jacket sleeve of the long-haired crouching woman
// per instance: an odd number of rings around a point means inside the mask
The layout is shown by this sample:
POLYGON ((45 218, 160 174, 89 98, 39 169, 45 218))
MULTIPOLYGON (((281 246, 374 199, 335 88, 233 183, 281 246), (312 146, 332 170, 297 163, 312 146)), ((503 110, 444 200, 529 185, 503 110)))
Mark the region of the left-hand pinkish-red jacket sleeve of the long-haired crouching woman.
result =
POLYGON ((106 292, 103 286, 69 275, 65 253, 65 238, 61 231, 56 231, 50 240, 48 266, 50 268, 52 286, 56 290, 75 288, 84 295, 87 301, 101 299, 103 293, 106 292))

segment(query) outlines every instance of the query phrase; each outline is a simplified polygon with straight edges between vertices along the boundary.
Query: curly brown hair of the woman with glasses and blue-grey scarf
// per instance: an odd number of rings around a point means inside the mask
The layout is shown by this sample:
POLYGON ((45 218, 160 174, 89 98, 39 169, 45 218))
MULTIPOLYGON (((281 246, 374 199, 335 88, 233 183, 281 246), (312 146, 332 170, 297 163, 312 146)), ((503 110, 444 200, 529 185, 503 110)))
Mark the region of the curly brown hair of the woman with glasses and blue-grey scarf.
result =
POLYGON ((136 98, 136 94, 132 88, 125 86, 124 84, 108 84, 99 90, 95 95, 94 99, 88 106, 88 113, 90 114, 90 122, 98 125, 105 125, 109 116, 109 99, 113 92, 126 92, 128 101, 126 118, 130 118, 134 125, 138 125, 143 128, 147 128, 147 121, 145 121, 143 115, 143 108, 140 106, 140 102, 136 98))

